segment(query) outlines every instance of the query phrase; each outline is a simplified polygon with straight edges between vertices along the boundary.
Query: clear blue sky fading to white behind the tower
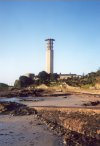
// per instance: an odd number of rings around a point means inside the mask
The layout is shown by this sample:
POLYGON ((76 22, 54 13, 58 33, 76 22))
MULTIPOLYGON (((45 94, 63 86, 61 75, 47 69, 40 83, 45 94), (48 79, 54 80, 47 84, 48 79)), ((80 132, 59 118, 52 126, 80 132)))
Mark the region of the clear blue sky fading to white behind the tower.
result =
POLYGON ((54 38, 54 72, 87 74, 100 67, 99 0, 0 0, 0 82, 45 70, 54 38))

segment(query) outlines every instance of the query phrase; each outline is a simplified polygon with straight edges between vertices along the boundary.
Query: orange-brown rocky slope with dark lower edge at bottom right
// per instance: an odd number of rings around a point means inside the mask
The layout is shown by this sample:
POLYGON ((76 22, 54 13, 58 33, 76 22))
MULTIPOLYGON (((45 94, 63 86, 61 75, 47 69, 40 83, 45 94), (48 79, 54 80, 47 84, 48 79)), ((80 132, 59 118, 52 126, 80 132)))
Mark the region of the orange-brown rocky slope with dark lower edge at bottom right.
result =
POLYGON ((99 146, 100 110, 36 108, 38 117, 63 136, 66 146, 99 146))

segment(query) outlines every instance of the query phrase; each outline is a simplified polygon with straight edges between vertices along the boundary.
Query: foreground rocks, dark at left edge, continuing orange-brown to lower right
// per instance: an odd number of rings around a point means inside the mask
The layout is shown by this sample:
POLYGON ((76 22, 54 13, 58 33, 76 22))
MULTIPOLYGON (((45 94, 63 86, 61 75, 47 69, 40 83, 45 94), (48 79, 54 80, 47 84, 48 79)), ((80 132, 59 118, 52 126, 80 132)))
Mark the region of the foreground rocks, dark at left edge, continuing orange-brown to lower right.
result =
MULTIPOLYGON (((13 102, 0 103, 0 115, 35 115, 66 146, 99 146, 100 110, 85 108, 34 107, 13 102)), ((52 145, 51 145, 52 146, 52 145)))

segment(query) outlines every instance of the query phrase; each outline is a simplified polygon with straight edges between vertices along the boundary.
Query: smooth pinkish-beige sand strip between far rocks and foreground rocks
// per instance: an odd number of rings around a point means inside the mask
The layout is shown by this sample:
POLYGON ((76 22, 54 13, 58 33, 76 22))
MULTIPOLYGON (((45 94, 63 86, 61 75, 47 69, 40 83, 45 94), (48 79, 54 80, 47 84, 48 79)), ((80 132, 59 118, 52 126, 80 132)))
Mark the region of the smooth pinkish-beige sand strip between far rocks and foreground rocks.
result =
MULTIPOLYGON (((21 103, 26 104, 29 107, 34 106, 48 106, 48 107, 83 107, 84 103, 90 101, 100 101, 99 97, 86 96, 86 95, 68 95, 68 96, 58 96, 58 97, 36 97, 37 101, 22 101, 21 103)), ((32 98, 31 98, 32 99, 32 98)), ((89 106, 90 107, 90 106, 89 106)), ((93 108, 100 108, 98 106, 91 106, 93 108)))

